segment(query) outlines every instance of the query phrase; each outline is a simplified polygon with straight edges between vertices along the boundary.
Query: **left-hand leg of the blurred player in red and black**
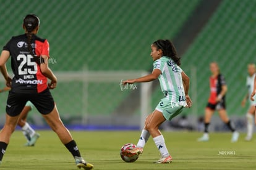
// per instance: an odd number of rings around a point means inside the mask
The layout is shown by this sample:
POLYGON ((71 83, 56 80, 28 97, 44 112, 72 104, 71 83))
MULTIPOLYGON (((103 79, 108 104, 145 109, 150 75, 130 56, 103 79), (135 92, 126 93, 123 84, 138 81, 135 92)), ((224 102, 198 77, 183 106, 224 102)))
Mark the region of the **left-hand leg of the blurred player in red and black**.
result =
POLYGON ((209 140, 208 126, 210 124, 211 116, 213 115, 214 111, 215 110, 213 108, 210 108, 210 107, 205 108, 205 120, 204 120, 205 130, 204 130, 203 136, 197 139, 198 142, 206 142, 209 140))

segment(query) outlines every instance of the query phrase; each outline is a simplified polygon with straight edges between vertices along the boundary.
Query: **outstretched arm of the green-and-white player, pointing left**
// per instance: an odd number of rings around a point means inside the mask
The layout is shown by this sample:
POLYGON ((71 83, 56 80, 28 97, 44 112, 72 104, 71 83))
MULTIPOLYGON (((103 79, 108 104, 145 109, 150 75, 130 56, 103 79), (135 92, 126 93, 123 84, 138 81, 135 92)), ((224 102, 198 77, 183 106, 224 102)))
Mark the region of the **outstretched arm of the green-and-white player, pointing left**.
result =
POLYGON ((161 70, 154 69, 150 75, 142 76, 136 79, 127 79, 126 81, 123 81, 122 84, 150 82, 150 81, 153 81, 154 79, 157 79, 160 74, 161 74, 161 70))

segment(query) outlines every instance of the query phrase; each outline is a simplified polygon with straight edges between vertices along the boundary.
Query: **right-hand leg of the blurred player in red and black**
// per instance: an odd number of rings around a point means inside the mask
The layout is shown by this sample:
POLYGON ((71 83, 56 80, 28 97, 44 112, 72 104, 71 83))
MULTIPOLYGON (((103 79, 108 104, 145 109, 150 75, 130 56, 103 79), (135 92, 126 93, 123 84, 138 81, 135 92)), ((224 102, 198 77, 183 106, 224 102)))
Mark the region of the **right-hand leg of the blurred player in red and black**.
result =
POLYGON ((236 131, 236 128, 234 127, 234 123, 228 118, 228 114, 226 109, 222 108, 218 110, 218 113, 220 115, 221 120, 226 123, 226 125, 229 127, 229 129, 233 132, 231 142, 237 142, 239 133, 236 131))

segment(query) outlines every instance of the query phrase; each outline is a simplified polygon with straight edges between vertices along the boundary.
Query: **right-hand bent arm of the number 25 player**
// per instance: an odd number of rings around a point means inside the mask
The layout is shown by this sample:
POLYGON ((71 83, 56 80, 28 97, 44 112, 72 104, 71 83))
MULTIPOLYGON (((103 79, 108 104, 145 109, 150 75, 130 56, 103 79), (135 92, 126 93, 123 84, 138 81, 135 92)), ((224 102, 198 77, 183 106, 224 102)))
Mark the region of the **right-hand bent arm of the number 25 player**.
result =
POLYGON ((48 66, 49 57, 47 55, 41 55, 41 57, 44 59, 44 62, 40 64, 41 73, 51 80, 51 83, 48 84, 49 89, 54 89, 57 85, 57 78, 48 66))

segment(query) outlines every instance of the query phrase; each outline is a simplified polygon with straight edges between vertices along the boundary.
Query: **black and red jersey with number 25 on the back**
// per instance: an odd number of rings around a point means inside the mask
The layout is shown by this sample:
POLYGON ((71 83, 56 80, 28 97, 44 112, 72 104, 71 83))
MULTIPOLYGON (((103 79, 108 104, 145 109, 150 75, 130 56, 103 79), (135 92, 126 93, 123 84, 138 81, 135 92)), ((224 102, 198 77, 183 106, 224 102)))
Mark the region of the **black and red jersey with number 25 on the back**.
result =
MULTIPOLYGON (((32 36, 32 49, 35 57, 47 55, 49 57, 49 43, 47 39, 32 36)), ((3 50, 11 54, 11 66, 14 73, 12 78, 13 92, 40 93, 47 88, 47 78, 41 73, 40 65, 28 52, 27 35, 14 36, 7 42, 3 50)))

